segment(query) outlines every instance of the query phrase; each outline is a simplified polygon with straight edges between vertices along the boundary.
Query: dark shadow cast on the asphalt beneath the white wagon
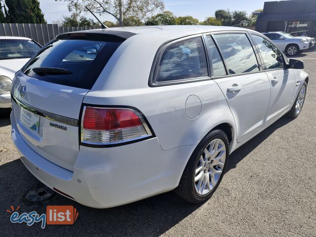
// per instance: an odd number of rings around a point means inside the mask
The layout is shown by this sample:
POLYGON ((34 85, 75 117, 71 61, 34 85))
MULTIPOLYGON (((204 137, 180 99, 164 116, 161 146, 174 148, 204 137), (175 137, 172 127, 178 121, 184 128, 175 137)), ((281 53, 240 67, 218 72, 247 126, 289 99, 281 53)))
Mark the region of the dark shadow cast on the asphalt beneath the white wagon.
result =
MULTIPOLYGON (((279 119, 235 151, 230 157, 227 172, 235 168, 240 160, 276 129, 290 121, 291 119, 288 118, 279 119)), ((187 203, 173 192, 110 209, 85 207, 58 194, 49 200, 34 204, 28 202, 25 195, 30 189, 37 186, 39 181, 27 171, 19 159, 0 166, 0 182, 0 206, 2 208, 0 232, 4 232, 5 235, 21 233, 25 235, 64 235, 67 233, 69 236, 92 234, 97 236, 159 236, 200 207, 200 205, 187 203), (10 205, 20 205, 21 212, 36 210, 38 213, 45 213, 47 205, 74 205, 78 209, 79 218, 73 226, 48 225, 43 231, 40 229, 39 223, 35 223, 32 227, 28 227, 25 223, 10 223, 10 214, 5 212, 10 205)), ((109 190, 109 192, 111 191, 109 190)))

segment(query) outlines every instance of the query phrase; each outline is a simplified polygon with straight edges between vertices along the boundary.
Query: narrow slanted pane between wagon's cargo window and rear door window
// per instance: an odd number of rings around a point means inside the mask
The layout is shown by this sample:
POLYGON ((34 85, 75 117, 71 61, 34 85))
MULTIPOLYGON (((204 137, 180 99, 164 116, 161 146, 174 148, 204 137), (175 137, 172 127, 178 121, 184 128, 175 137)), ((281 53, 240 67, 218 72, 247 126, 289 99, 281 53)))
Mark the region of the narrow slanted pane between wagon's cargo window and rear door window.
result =
POLYGON ((215 43, 211 36, 207 36, 207 46, 208 46, 208 58, 211 66, 212 76, 224 76, 226 75, 224 63, 222 58, 215 46, 215 43))

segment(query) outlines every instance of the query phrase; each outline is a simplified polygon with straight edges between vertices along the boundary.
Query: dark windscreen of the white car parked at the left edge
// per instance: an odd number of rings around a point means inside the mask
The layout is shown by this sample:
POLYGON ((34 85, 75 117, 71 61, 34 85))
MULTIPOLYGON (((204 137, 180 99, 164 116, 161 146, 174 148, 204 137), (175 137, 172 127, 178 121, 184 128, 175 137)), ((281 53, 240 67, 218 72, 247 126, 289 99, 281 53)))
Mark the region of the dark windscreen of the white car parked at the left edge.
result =
POLYGON ((0 40, 0 59, 31 58, 39 50, 33 40, 0 40))

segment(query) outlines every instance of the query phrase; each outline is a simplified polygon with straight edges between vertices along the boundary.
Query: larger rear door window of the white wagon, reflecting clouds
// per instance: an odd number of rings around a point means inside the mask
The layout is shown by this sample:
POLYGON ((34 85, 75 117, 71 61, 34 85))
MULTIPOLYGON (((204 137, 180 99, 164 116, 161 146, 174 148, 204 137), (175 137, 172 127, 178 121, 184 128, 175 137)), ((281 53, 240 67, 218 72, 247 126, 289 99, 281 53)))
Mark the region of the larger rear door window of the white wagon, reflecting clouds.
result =
POLYGON ((245 34, 214 35, 227 65, 229 74, 259 71, 255 52, 245 34))

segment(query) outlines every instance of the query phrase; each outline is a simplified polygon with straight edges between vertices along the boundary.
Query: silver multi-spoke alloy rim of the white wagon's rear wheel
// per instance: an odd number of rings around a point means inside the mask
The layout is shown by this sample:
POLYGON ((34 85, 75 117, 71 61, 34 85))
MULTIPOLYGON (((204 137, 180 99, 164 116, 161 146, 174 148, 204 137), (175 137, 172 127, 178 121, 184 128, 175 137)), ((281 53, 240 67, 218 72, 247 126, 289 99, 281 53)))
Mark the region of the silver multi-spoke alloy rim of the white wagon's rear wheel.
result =
POLYGON ((195 170, 195 190, 207 195, 220 179, 226 160, 226 146, 223 140, 214 139, 204 149, 195 170))

